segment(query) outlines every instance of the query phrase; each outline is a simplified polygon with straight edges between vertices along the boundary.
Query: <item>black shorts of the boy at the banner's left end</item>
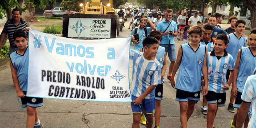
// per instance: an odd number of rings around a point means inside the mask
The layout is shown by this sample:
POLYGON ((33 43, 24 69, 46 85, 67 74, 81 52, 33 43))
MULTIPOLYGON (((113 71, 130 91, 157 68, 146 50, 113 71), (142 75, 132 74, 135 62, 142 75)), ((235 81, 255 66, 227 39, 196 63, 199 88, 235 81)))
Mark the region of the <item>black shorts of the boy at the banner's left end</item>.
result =
MULTIPOLYGON (((23 93, 26 95, 26 91, 23 91, 23 93)), ((20 98, 22 101, 22 107, 25 108, 26 106, 30 107, 41 107, 43 106, 43 98, 36 98, 36 97, 24 97, 20 98)))

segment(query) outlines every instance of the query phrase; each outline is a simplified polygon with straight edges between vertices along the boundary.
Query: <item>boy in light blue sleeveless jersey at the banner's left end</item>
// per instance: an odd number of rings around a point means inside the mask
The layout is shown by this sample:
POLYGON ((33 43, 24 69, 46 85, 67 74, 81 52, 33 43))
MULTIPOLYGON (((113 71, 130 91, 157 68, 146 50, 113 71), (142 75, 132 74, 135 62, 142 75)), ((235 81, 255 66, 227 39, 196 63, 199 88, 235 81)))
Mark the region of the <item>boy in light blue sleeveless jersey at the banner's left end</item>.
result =
POLYGON ((21 98, 22 107, 27 107, 27 128, 41 128, 37 107, 43 106, 43 98, 25 96, 28 84, 28 38, 24 30, 17 30, 13 39, 18 50, 10 54, 10 67, 17 96, 21 98))

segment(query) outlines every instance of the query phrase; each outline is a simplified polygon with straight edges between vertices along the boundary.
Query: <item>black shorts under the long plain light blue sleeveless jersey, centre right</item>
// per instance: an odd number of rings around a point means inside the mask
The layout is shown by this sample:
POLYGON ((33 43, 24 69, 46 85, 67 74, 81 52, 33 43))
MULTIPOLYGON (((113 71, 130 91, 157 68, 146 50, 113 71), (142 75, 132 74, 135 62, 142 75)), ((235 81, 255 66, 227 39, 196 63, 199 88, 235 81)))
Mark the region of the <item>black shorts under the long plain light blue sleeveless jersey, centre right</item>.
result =
POLYGON ((200 91, 198 92, 188 92, 177 89, 176 91, 176 100, 180 102, 187 102, 188 100, 199 101, 200 100, 200 91))

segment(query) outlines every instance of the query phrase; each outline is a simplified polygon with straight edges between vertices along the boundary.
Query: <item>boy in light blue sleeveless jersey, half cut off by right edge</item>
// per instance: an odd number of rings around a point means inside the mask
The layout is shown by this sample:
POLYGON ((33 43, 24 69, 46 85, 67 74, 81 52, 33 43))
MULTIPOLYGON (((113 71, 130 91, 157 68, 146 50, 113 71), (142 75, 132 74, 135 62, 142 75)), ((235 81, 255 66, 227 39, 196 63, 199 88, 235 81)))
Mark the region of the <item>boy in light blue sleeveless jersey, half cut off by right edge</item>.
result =
MULTIPOLYGON (((239 21, 239 20, 238 20, 239 21)), ((253 74, 256 67, 256 29, 253 29, 249 34, 249 47, 239 49, 237 54, 236 67, 234 69, 233 84, 231 94, 236 97, 235 108, 239 111, 242 104, 241 95, 244 90, 245 80, 253 74)), ((231 127, 234 128, 237 121, 237 114, 234 115, 234 120, 231 121, 231 127)), ((248 117, 245 120, 245 126, 248 124, 248 117)))

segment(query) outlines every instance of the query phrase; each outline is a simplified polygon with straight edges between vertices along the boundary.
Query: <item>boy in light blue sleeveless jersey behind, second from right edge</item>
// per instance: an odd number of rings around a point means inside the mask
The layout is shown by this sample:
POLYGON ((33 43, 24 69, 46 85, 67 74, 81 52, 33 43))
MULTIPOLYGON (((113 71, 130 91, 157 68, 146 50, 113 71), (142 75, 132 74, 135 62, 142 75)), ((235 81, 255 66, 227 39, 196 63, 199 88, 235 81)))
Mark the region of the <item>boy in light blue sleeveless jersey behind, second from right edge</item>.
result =
MULTIPOLYGON (((243 32, 245 30, 245 24, 246 22, 242 19, 237 20, 235 24, 235 29, 236 32, 231 33, 228 35, 228 47, 227 47, 227 52, 232 55, 234 58, 234 61, 236 62, 237 60, 237 52, 240 48, 246 47, 246 42, 247 42, 247 37, 244 36, 243 32)), ((229 73, 230 71, 228 70, 227 72, 227 80, 229 78, 229 73)), ((246 80, 246 79, 245 79, 246 80)), ((233 90, 233 85, 232 85, 232 90, 233 90)), ((232 92, 231 90, 231 92, 232 92)), ((230 95, 230 102, 228 105, 228 110, 230 112, 235 112, 233 102, 235 100, 235 97, 231 94, 230 95)), ((236 107, 235 107, 236 108, 236 107)))

